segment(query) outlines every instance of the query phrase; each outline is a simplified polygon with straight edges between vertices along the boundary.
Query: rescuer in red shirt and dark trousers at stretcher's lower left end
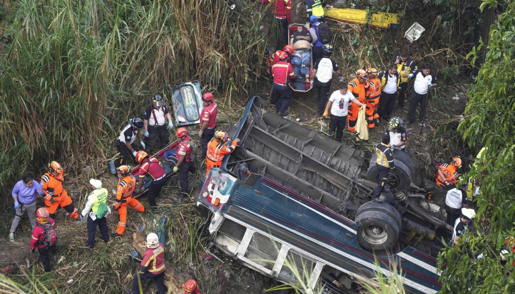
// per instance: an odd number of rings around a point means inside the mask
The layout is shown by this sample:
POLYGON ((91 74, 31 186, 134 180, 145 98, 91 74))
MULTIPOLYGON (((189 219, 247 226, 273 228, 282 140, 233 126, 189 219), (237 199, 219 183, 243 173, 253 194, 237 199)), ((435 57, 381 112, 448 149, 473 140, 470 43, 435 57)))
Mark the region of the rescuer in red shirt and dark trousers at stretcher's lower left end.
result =
POLYGON ((164 172, 159 159, 155 157, 150 158, 147 152, 143 150, 136 153, 136 161, 140 163, 140 178, 138 180, 138 185, 136 185, 136 189, 143 192, 143 178, 145 178, 145 176, 151 180, 147 192, 148 204, 150 205, 150 209, 155 209, 156 198, 159 196, 159 192, 161 192, 164 182, 166 182, 166 173, 164 172))

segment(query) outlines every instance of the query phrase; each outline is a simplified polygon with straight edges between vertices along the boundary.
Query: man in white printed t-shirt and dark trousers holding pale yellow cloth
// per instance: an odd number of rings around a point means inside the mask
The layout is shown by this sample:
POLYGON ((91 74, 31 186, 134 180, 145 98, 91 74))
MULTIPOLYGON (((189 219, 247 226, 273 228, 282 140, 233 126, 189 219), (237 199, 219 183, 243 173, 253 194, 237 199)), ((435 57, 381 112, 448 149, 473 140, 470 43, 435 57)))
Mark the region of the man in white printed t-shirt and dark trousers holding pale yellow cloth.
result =
POLYGON ((351 92, 347 91, 347 83, 340 85, 340 90, 336 90, 329 97, 323 117, 328 117, 329 108, 331 108, 331 120, 329 122, 329 133, 333 134, 336 131, 336 141, 341 142, 341 137, 344 134, 344 129, 347 127, 347 113, 349 108, 349 101, 357 105, 364 106, 362 102, 354 98, 351 92))

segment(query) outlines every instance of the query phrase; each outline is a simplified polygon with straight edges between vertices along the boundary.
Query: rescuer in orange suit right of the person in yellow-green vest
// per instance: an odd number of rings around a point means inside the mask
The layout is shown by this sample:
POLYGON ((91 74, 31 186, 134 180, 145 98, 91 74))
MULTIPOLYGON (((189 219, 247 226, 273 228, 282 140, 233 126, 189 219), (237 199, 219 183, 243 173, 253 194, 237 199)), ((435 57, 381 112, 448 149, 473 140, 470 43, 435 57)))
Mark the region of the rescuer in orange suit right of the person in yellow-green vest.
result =
POLYGON ((145 206, 132 196, 132 192, 134 192, 136 186, 136 179, 132 176, 130 168, 127 165, 118 166, 118 168, 116 168, 116 175, 119 181, 116 185, 116 199, 114 200, 113 207, 118 213, 119 221, 116 233, 112 233, 111 237, 122 237, 127 221, 127 206, 141 213, 145 211, 145 206))

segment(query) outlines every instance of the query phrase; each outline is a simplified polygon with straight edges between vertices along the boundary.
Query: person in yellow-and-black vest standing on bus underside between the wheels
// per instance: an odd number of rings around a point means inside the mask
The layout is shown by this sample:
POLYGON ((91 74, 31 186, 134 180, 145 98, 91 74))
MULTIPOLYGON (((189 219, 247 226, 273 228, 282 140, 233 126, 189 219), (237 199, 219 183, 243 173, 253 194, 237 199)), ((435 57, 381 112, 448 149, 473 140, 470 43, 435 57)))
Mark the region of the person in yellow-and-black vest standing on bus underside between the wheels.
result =
POLYGON ((388 182, 388 171, 395 168, 393 163, 393 153, 390 149, 390 135, 384 133, 381 142, 375 145, 375 154, 377 154, 377 169, 379 170, 379 177, 377 179, 377 186, 372 192, 372 200, 376 200, 383 193, 386 183, 388 182))

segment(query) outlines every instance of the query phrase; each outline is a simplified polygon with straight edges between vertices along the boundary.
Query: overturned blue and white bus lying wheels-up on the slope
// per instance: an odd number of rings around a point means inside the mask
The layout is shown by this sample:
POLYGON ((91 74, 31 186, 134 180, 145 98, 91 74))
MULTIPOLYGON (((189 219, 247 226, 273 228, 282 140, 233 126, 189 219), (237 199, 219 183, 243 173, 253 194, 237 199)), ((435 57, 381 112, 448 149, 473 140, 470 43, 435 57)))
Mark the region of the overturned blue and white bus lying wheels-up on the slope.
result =
MULTIPOLYGON (((409 293, 440 289, 436 256, 452 228, 435 200, 411 183, 414 165, 396 168, 380 202, 378 171, 357 151, 265 110, 252 97, 229 135, 241 146, 205 180, 197 205, 212 213, 213 245, 286 284, 348 293, 397 264, 409 293), (395 261, 392 263, 391 261, 395 261)), ((375 161, 372 157, 371 162, 375 161)))

